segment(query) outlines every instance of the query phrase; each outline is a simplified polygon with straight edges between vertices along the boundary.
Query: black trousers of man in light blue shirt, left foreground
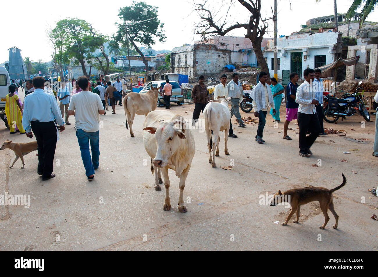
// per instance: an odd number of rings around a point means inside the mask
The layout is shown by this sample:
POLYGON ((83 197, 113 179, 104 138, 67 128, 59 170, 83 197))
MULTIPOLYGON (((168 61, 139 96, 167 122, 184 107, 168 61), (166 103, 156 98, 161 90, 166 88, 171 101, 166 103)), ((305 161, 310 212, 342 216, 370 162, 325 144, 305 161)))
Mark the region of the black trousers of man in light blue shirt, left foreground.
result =
POLYGON ((42 178, 53 173, 54 155, 56 148, 56 127, 54 121, 31 121, 31 130, 37 139, 38 169, 42 178))

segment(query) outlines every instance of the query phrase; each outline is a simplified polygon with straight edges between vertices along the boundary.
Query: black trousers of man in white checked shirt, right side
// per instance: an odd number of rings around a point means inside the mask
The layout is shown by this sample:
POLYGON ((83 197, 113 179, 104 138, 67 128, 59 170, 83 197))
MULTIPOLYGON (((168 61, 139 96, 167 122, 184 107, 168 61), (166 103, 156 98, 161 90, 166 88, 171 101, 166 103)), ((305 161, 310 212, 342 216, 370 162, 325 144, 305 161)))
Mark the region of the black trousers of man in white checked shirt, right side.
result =
POLYGON ((298 113, 297 122, 299 126, 299 153, 308 154, 307 149, 310 149, 320 133, 318 114, 298 113), (306 136, 307 130, 311 132, 308 136, 306 136))

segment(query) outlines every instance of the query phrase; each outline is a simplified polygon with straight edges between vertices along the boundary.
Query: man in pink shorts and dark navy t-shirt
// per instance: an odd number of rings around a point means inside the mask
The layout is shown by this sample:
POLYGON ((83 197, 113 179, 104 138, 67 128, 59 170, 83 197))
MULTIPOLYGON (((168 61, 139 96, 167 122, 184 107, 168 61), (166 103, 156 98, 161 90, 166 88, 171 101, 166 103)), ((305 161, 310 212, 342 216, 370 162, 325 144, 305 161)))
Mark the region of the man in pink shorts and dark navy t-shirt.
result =
POLYGON ((299 79, 299 75, 298 73, 293 72, 289 77, 290 83, 286 87, 286 121, 283 125, 283 139, 291 141, 292 139, 287 135, 287 129, 290 121, 297 119, 299 104, 295 102, 295 96, 297 94, 297 81, 299 79))

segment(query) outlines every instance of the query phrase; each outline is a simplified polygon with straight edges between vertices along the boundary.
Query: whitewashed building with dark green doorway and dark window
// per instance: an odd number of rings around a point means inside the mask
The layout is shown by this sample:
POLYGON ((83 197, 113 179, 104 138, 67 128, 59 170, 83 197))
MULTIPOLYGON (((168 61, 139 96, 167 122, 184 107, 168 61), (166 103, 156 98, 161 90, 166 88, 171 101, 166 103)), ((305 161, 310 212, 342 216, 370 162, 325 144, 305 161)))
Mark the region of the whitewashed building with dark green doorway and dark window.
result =
MULTIPOLYGON (((303 78, 306 68, 316 68, 332 63, 342 51, 342 33, 293 33, 277 38, 278 79, 282 80, 282 70, 290 70, 303 78)), ((264 57, 270 75, 274 74, 274 40, 268 41, 264 57)))

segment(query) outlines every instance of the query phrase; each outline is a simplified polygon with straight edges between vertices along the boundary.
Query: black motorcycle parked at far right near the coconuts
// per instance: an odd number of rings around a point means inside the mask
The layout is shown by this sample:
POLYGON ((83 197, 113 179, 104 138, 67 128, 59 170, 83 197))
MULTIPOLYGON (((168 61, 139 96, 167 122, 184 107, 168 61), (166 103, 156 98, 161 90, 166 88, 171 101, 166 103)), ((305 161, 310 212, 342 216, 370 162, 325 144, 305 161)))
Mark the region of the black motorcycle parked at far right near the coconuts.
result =
MULTIPOLYGON (((358 83, 358 85, 360 84, 362 84, 362 81, 358 83)), ((362 101, 362 93, 357 92, 361 88, 357 87, 356 92, 352 94, 345 92, 341 96, 342 98, 335 98, 330 96, 330 94, 323 95, 323 115, 325 121, 334 123, 340 117, 352 116, 356 112, 359 112, 366 121, 370 121, 369 112, 362 101)))

